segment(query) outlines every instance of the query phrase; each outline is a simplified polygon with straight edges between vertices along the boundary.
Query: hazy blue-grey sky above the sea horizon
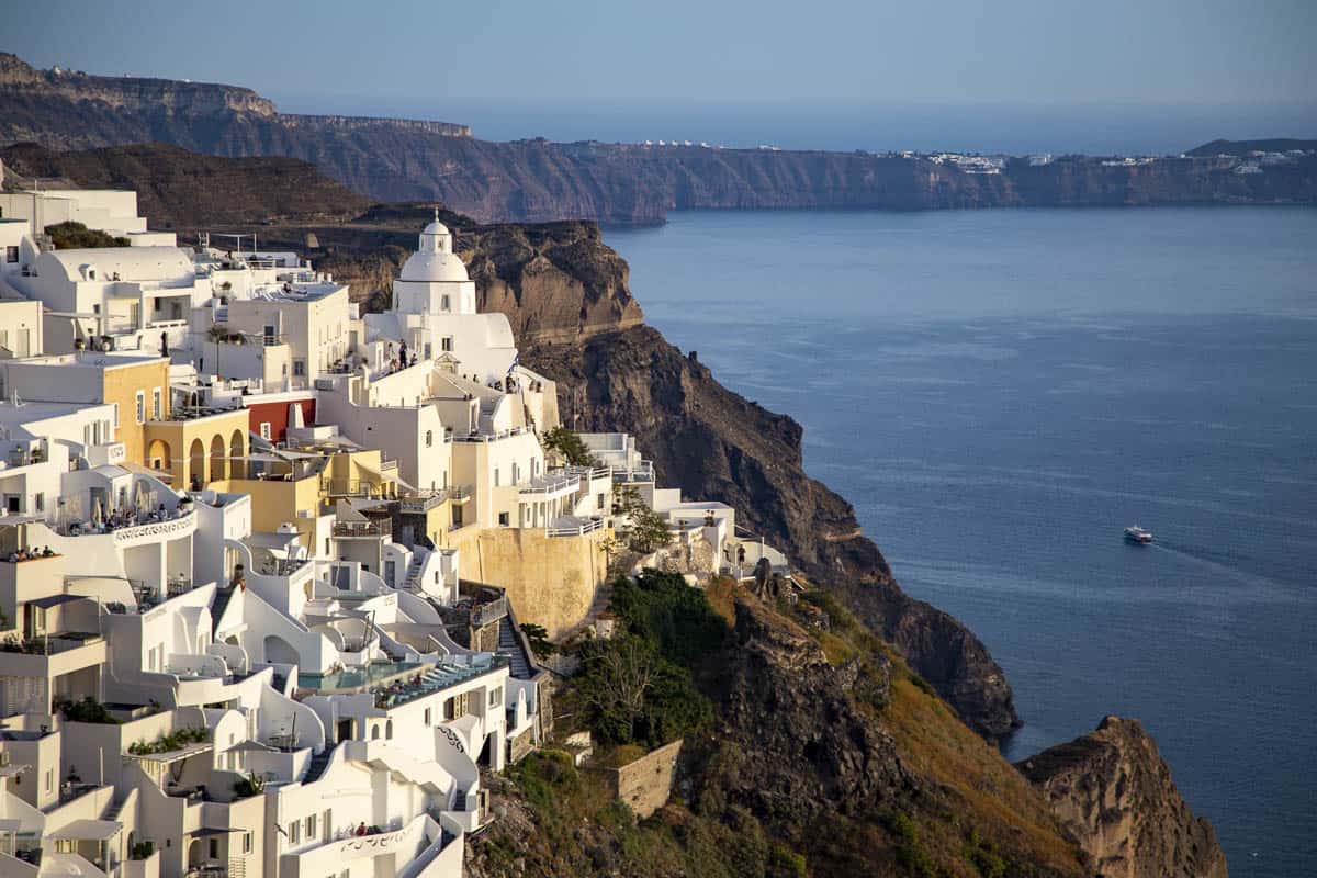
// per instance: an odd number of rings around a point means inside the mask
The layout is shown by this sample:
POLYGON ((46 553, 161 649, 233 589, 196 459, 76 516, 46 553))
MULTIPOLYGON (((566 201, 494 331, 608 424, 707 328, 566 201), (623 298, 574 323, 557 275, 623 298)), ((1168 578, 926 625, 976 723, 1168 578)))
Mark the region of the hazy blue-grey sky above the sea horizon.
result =
POLYGON ((4 0, 47 67, 361 99, 1317 99, 1317 0, 4 0))

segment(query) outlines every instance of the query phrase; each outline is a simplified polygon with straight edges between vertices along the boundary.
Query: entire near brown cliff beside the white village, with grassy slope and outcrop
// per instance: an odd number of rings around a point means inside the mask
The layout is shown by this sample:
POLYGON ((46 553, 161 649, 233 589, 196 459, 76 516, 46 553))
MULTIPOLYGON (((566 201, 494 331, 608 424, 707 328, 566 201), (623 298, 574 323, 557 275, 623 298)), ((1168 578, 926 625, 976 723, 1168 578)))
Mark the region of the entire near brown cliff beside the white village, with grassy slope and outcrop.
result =
MULTIPOLYGON (((124 186, 162 179, 141 155, 113 165, 124 186)), ((161 186, 159 204, 180 204, 161 186)), ((228 208, 234 230, 274 211, 262 190, 244 192, 228 208)), ((429 205, 331 215, 286 217, 262 242, 309 253, 381 307, 429 205)), ((795 421, 727 390, 644 325, 627 265, 597 226, 443 220, 482 308, 507 313, 524 359, 558 382, 570 426, 635 433, 664 482, 736 505, 817 586, 785 606, 726 582, 699 592, 726 629, 691 662, 709 721, 689 736, 657 820, 636 824, 590 773, 535 756, 490 779, 499 816, 469 849, 473 878, 1090 875, 1126 861, 1135 870, 1110 874, 1223 875, 1210 828, 1141 729, 1104 728, 1022 771, 1002 760, 981 736, 1017 719, 982 644, 901 591, 852 507, 803 471, 795 421)))

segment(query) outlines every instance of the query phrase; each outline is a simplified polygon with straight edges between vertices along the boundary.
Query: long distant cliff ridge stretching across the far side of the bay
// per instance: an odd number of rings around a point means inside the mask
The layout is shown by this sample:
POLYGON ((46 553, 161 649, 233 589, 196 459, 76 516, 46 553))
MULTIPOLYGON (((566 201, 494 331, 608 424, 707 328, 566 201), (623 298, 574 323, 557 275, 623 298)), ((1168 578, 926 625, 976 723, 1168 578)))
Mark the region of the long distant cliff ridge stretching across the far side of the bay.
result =
POLYGON ((672 209, 1317 203, 1317 155, 1237 174, 1216 153, 1147 165, 1064 157, 1000 174, 871 153, 481 141, 449 122, 282 116, 246 88, 34 70, 0 54, 0 145, 163 141, 286 155, 386 201, 440 200, 482 222, 660 222, 672 209))

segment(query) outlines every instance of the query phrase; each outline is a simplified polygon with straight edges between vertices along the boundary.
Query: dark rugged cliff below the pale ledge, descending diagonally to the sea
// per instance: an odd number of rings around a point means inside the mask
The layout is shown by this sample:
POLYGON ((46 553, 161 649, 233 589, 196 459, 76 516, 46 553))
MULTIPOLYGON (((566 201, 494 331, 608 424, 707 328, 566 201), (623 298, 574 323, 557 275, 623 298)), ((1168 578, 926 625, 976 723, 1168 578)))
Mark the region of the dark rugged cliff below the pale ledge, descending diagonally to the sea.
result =
POLYGON ((979 638, 901 591, 851 504, 805 473, 794 420, 728 391, 644 325, 535 345, 524 359, 558 382, 569 426, 630 432, 665 484, 736 507, 739 521, 844 595, 968 725, 993 737, 1018 725, 1005 674, 979 638))

